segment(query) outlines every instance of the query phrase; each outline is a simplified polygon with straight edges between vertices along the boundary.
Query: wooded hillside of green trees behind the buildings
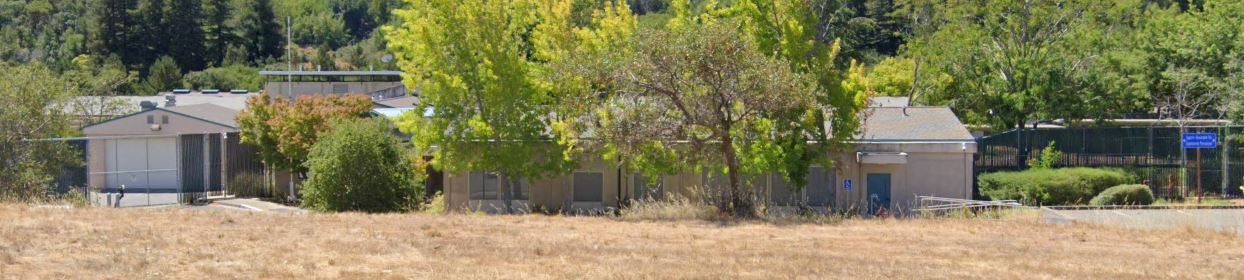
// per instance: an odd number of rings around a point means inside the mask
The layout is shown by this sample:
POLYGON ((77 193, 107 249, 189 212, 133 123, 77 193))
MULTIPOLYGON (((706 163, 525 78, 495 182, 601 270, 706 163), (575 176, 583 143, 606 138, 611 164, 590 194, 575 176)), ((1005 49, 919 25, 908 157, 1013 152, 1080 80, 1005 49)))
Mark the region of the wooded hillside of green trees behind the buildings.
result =
MULTIPOLYGON (((663 29, 671 0, 629 0, 663 29)), ((612 0, 578 0, 576 24, 612 0)), ((693 0, 729 16, 734 0, 693 0)), ((750 1, 748 1, 750 2, 750 1)), ((761 1, 763 2, 763 1, 761 1)), ((1244 4, 1230 0, 806 0, 836 78, 950 106, 969 123, 1238 117, 1244 4), (862 66, 852 71, 852 65, 862 66)), ((0 0, 0 60, 83 95, 256 90, 260 70, 396 70, 401 0, 0 0), (291 19, 286 26, 286 17, 291 19), (294 47, 286 50, 286 30, 294 47)), ((750 4, 749 4, 750 5, 750 4)), ((765 22, 782 25, 782 22, 765 22)), ((775 29, 781 30, 781 29, 775 29)))

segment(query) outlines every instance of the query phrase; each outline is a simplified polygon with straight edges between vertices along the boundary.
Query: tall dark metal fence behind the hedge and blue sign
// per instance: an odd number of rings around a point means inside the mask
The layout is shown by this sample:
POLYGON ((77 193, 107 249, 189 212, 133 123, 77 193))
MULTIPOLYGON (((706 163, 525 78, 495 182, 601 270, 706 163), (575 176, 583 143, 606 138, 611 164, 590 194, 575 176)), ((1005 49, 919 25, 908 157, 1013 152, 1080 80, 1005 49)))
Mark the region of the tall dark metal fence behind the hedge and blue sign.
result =
MULTIPOLYGON (((1239 197, 1244 179, 1244 126, 1186 127, 1184 132, 1218 133, 1218 148, 1181 148, 1178 127, 1025 128, 979 138, 975 172, 1026 169, 1049 144, 1061 152, 1055 167, 1107 167, 1148 179, 1158 197, 1197 192, 1239 197)), ((978 195, 979 197, 979 195, 978 195)))

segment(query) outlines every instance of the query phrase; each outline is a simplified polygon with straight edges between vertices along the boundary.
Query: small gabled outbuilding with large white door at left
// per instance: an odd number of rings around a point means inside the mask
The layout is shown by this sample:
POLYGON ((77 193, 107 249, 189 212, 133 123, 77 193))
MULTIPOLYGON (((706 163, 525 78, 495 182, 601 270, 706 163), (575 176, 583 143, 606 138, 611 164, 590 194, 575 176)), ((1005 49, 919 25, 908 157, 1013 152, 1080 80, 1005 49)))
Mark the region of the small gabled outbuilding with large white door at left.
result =
POLYGON ((238 139, 239 111, 211 103, 154 106, 82 128, 87 184, 102 192, 165 194, 224 189, 239 172, 261 170, 254 148, 238 139))

